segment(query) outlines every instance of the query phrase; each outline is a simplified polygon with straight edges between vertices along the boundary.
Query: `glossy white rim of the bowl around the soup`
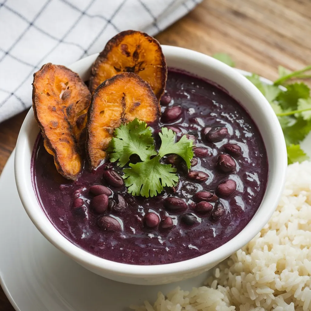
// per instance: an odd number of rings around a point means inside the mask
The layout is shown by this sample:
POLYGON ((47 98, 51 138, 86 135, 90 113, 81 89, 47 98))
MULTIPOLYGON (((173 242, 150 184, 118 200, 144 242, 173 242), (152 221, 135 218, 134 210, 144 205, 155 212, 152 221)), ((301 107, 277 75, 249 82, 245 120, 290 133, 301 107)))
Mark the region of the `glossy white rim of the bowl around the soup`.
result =
MULTIPOLYGON (((275 211, 277 203, 281 197, 282 189, 285 183, 285 172, 287 167, 285 140, 280 123, 278 122, 275 113, 273 112, 270 104, 262 95, 262 93, 237 70, 208 55, 175 46, 162 45, 162 49, 165 55, 169 54, 174 57, 176 56, 177 58, 187 58, 190 61, 195 60, 196 62, 204 63, 204 66, 208 66, 212 70, 215 70, 220 74, 223 74, 232 79, 235 82, 235 85, 242 87, 245 92, 248 92, 250 96, 253 97, 253 100, 255 102, 258 102, 258 105, 260 102, 259 109, 261 109, 262 113, 265 115, 265 121, 267 125, 273 128, 274 131, 274 135, 271 136, 271 139, 272 142, 275 144, 274 153, 277 159, 275 164, 275 170, 277 170, 279 174, 274 174, 274 176, 268 176, 268 180, 270 178, 273 179, 273 183, 271 185, 273 188, 273 193, 272 191, 270 191, 270 195, 266 196, 267 189, 265 190, 265 197, 262 200, 260 206, 258 207, 258 211, 253 216, 252 220, 244 227, 242 231, 239 232, 239 234, 234 236, 234 238, 230 239, 227 243, 212 250, 211 252, 180 262, 158 265, 132 265, 127 263, 110 261, 88 253, 87 251, 79 248, 78 246, 67 240, 53 226, 48 217, 44 214, 44 211, 41 209, 39 203, 37 201, 34 202, 31 199, 31 195, 29 195, 29 188, 31 187, 33 193, 35 191, 32 187, 32 182, 30 187, 29 185, 25 187, 25 184, 30 182, 29 176, 31 177, 31 174, 30 168, 24 165, 27 148, 33 148, 33 146, 29 146, 29 140, 31 135, 34 135, 33 127, 35 123, 35 118, 33 114, 33 109, 30 108, 30 111, 26 115, 26 118, 22 124, 17 139, 14 161, 16 186, 19 196, 21 198, 21 202, 28 216, 38 228, 38 230, 45 236, 45 238, 47 238, 54 246, 60 249, 63 253, 66 253, 75 261, 81 263, 86 267, 91 267, 95 270, 99 269, 101 271, 121 276, 151 277, 176 275, 179 273, 185 273, 190 271, 193 272, 196 270, 198 271, 211 264, 216 264, 229 257, 232 253, 243 247, 246 243, 248 243, 248 241, 253 239, 253 237, 258 234, 258 232, 264 227, 264 225, 272 216, 272 213, 275 211), (264 205, 262 204, 263 202, 265 202, 264 205), (42 213, 37 212, 38 207, 40 208, 42 213), (42 214, 44 215, 44 217, 42 217, 42 214)), ((98 53, 90 55, 73 63, 71 66, 68 67, 91 67, 91 64, 93 63, 97 55, 98 53)))

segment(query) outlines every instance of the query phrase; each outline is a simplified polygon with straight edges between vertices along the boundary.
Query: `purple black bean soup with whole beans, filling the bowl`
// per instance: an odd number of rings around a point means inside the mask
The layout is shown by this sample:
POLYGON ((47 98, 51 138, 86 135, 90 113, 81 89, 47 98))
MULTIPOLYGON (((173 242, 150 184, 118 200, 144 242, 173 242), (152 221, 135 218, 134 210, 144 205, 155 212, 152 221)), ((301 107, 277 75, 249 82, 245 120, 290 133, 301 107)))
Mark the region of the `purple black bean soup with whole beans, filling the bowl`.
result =
MULTIPOLYGON (((173 187, 153 197, 128 193, 123 170, 87 160, 75 181, 63 178, 39 134, 32 157, 33 185, 46 216, 73 244, 98 257, 136 265, 179 262, 203 255, 236 236, 265 193, 268 162, 252 118, 226 91, 187 72, 169 69, 161 117, 148 124, 193 141, 188 169, 176 154, 173 187)), ((128 167, 128 166, 127 166, 128 167)))

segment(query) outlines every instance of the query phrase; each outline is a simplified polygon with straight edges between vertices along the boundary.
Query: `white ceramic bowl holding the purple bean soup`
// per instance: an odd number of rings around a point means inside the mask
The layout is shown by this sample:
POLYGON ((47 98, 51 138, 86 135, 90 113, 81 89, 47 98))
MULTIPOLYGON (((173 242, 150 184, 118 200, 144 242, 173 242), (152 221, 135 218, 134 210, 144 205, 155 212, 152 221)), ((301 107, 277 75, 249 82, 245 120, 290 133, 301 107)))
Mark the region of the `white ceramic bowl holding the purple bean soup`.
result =
MULTIPOLYGON (((32 109, 21 127, 15 151, 18 193, 27 214, 39 231, 53 245, 86 269, 115 281, 132 284, 164 284, 196 276, 247 244, 267 223, 275 210, 281 196, 287 166, 285 141, 278 119, 270 104, 250 81, 233 68, 202 53, 174 46, 162 48, 169 67, 187 70, 225 88, 248 111, 264 140, 269 163, 266 193, 253 219, 229 242, 197 258, 164 265, 129 265, 96 257, 63 237, 37 202, 31 181, 30 162, 39 127, 32 109)), ((69 68, 77 72, 83 80, 87 80, 97 55, 81 59, 69 68)))

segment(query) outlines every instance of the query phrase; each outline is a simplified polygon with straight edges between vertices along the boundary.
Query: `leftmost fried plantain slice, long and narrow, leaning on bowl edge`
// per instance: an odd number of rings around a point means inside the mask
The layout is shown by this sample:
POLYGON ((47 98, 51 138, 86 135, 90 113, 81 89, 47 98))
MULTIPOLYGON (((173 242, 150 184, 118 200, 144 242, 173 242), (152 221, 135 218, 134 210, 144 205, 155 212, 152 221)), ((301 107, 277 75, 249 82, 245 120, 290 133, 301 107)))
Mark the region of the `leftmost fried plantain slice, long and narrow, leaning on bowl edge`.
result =
POLYGON ((60 174, 77 179, 82 168, 78 143, 86 124, 91 94, 70 69, 45 64, 34 74, 32 105, 44 138, 60 174))

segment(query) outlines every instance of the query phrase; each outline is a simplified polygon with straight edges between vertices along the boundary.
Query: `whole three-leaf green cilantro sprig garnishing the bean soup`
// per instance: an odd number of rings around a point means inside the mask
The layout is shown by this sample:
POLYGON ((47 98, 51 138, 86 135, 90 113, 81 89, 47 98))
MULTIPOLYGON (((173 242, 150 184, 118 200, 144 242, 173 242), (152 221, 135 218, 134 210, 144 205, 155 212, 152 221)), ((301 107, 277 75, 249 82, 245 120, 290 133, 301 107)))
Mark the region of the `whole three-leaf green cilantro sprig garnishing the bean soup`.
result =
POLYGON ((121 125, 114 131, 109 149, 111 162, 118 161, 123 168, 122 176, 128 192, 132 195, 154 197, 163 191, 164 187, 173 187, 178 182, 176 168, 163 164, 161 159, 167 154, 177 154, 185 160, 190 168, 193 158, 192 140, 186 136, 176 142, 176 134, 168 128, 162 128, 159 133, 161 146, 155 150, 152 130, 145 122, 137 118, 132 122, 121 125), (131 163, 131 156, 138 156, 141 162, 131 163))

